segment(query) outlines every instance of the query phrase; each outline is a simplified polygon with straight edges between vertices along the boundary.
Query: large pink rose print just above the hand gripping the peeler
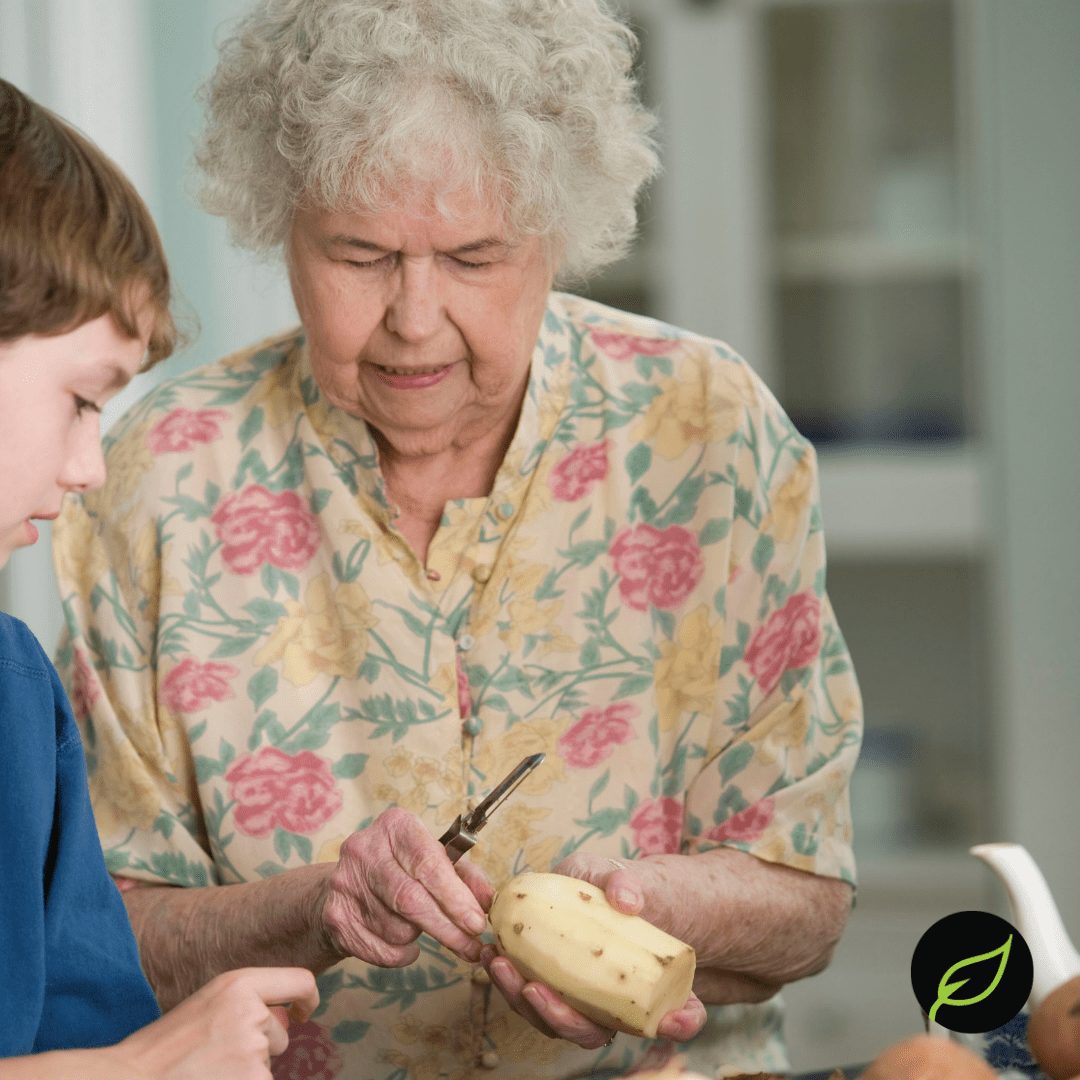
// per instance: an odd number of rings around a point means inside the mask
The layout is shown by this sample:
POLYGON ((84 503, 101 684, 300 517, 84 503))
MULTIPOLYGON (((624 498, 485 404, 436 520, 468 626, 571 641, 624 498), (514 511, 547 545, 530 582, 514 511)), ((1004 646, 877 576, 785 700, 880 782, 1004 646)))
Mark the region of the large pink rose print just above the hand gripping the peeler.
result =
POLYGON ((225 779, 245 836, 269 836, 279 826, 313 833, 341 809, 329 762, 309 750, 291 757, 264 746, 234 761, 225 779))

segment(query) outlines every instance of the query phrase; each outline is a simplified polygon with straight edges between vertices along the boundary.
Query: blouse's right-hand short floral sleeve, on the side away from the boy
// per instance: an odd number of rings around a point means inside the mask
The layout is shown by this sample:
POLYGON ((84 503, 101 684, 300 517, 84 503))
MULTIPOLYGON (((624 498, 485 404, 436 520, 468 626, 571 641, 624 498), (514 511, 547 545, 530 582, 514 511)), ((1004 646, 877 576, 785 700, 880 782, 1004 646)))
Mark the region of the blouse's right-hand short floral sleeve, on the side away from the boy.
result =
POLYGON ((760 383, 733 443, 719 693, 687 793, 689 848, 726 845, 854 883, 862 702, 825 591, 814 450, 760 383))

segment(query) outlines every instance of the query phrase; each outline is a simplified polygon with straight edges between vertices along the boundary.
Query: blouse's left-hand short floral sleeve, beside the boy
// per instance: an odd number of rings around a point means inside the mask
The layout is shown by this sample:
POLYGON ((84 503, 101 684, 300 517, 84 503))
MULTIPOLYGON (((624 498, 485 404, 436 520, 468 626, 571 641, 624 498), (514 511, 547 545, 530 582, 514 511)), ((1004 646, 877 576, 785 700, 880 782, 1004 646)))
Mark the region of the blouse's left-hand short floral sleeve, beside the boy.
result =
POLYGON ((194 764, 156 690, 157 615, 168 584, 161 581, 157 523, 138 499, 146 468, 138 435, 136 423, 109 454, 106 486, 68 499, 55 524, 66 622, 56 666, 83 737, 109 872, 213 885, 194 764))

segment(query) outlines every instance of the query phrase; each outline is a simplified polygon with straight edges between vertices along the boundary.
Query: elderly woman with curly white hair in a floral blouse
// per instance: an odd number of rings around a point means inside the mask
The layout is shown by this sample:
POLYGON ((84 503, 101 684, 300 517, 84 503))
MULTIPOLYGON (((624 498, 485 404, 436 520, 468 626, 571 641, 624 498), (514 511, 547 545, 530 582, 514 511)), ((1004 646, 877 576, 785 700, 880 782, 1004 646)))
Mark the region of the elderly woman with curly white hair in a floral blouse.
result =
POLYGON ((599 0, 261 0, 211 81, 207 205, 302 325, 117 429, 62 661, 163 1001, 322 973, 278 1076, 779 1068, 842 929, 813 453, 724 345, 552 292, 654 171, 633 52, 599 0), (455 869, 433 837, 539 751, 455 869), (482 948, 525 868, 697 949, 657 1044, 482 948))

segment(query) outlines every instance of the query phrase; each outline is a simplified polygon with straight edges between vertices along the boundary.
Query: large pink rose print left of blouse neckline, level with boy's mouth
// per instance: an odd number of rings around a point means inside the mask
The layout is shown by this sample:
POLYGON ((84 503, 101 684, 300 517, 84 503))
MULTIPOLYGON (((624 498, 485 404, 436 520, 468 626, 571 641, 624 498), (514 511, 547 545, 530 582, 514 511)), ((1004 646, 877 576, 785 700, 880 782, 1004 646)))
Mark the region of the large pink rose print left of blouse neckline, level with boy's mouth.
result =
POLYGON ((227 495, 211 518, 222 543, 221 557, 233 573, 251 573, 264 563, 300 570, 319 546, 319 523, 295 491, 276 495, 258 484, 227 495))

